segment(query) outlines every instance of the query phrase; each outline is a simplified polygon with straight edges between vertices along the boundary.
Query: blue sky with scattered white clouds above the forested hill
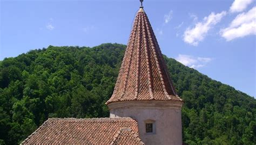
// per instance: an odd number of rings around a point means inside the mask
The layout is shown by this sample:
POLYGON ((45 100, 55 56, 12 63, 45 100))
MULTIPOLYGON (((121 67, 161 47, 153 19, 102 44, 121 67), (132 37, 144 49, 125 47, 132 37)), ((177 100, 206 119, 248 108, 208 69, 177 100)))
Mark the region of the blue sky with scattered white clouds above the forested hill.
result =
MULTIPOLYGON (((134 1, 3 1, 0 60, 53 46, 127 44, 134 1)), ((162 53, 256 96, 253 0, 144 0, 162 53)))

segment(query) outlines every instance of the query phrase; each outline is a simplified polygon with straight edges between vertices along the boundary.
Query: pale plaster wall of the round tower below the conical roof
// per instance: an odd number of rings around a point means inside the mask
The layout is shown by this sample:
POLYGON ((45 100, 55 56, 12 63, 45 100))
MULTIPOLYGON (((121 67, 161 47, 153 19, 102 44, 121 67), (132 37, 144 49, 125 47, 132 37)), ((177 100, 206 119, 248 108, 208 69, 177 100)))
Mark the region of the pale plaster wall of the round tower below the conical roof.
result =
POLYGON ((140 104, 110 108, 110 118, 131 117, 138 121, 139 137, 145 144, 182 144, 181 106, 159 107, 140 104), (130 106, 130 107, 129 107, 130 106), (145 121, 153 120, 153 133, 146 133, 145 121))

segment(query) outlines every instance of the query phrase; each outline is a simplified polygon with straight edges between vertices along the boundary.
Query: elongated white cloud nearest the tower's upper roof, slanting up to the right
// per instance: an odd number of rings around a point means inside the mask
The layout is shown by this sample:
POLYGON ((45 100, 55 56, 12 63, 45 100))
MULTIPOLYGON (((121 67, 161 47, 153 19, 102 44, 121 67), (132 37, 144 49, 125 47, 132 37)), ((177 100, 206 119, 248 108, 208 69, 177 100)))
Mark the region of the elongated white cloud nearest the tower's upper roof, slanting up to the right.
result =
POLYGON ((215 14, 212 12, 208 17, 204 17, 203 21, 196 23, 194 27, 188 27, 184 32, 183 40, 193 46, 197 46, 199 41, 203 41, 207 32, 226 15, 226 12, 215 14))

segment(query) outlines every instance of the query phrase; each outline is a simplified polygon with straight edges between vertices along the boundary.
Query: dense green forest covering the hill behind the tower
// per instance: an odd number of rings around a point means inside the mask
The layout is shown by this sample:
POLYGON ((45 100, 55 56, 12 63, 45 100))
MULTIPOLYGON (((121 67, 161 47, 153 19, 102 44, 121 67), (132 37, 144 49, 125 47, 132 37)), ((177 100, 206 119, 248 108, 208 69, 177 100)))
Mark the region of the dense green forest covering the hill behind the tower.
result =
MULTIPOLYGON (((17 144, 48 118, 109 117, 125 45, 31 50, 0 61, 0 144, 17 144)), ((256 99, 165 56, 187 144, 255 144, 256 99)), ((235 78, 234 78, 235 79, 235 78)))

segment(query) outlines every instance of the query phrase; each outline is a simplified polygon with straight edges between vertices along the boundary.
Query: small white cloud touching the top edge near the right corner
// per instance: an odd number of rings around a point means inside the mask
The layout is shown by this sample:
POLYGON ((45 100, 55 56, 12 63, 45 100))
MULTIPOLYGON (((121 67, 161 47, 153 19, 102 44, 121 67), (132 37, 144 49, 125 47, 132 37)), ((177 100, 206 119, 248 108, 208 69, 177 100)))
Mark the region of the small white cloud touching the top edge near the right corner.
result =
POLYGON ((253 0, 234 0, 230 7, 230 12, 241 12, 244 11, 253 0))

